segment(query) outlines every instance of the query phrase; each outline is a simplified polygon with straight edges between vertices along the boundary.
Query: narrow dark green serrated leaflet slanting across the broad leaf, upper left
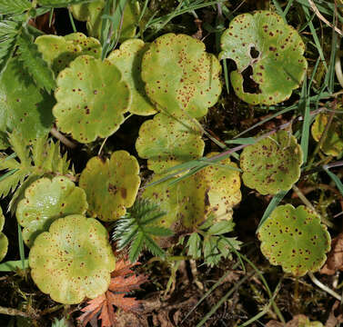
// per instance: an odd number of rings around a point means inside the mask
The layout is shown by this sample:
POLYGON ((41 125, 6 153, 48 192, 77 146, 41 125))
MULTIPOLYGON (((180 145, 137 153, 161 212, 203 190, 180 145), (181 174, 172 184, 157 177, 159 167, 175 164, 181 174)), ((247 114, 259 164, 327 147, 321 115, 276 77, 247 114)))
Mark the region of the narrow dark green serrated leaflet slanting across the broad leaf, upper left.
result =
POLYGON ((48 67, 38 51, 37 45, 33 43, 33 36, 23 29, 16 40, 18 45, 18 59, 24 64, 27 72, 33 77, 35 84, 51 93, 55 89, 55 78, 53 71, 48 67))

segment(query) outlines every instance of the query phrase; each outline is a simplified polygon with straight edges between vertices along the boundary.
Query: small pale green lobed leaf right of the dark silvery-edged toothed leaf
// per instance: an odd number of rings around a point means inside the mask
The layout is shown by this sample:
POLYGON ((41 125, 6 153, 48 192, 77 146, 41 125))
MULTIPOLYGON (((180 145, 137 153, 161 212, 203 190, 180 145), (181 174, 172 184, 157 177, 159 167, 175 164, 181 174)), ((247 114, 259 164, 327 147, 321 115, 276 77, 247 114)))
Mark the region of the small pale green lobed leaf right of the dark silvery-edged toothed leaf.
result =
POLYGON ((217 265, 222 258, 232 259, 231 253, 239 250, 241 242, 224 234, 232 232, 234 226, 232 221, 215 223, 214 216, 209 217, 197 228, 197 232, 190 234, 186 244, 187 254, 193 259, 203 256, 204 263, 210 267, 217 265))

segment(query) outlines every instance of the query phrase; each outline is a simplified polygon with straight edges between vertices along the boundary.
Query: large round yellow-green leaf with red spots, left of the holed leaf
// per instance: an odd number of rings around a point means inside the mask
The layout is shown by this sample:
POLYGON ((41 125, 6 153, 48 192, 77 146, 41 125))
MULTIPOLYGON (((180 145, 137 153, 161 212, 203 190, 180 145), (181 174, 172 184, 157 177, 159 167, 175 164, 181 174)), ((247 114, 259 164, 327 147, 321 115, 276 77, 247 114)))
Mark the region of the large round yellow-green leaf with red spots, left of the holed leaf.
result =
POLYGON ((142 78, 157 109, 200 118, 217 103, 221 68, 217 57, 205 50, 201 41, 171 33, 150 45, 143 56, 142 78))

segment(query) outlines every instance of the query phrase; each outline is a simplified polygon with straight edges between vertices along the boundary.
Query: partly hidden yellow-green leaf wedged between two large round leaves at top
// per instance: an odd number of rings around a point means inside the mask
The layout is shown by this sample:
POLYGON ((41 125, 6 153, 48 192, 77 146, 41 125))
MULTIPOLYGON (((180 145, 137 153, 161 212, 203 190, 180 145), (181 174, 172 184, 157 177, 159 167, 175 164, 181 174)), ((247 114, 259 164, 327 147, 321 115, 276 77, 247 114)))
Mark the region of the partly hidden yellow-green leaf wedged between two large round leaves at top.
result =
POLYGON ((142 57, 148 46, 142 40, 130 39, 120 45, 118 50, 109 54, 107 58, 111 64, 115 64, 119 68, 123 79, 130 87, 132 104, 129 112, 132 114, 156 114, 155 106, 146 96, 145 84, 141 77, 142 57))

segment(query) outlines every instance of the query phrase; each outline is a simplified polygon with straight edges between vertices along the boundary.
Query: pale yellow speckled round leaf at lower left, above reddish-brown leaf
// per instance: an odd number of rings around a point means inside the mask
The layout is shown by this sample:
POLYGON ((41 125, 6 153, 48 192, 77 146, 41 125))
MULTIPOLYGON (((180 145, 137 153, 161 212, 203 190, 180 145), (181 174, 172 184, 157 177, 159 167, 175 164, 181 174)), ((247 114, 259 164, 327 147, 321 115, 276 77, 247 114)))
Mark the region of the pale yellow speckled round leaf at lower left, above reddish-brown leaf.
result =
POLYGON ((107 291, 116 261, 106 228, 96 219, 73 214, 37 236, 29 265, 42 292, 55 302, 76 304, 107 291))

